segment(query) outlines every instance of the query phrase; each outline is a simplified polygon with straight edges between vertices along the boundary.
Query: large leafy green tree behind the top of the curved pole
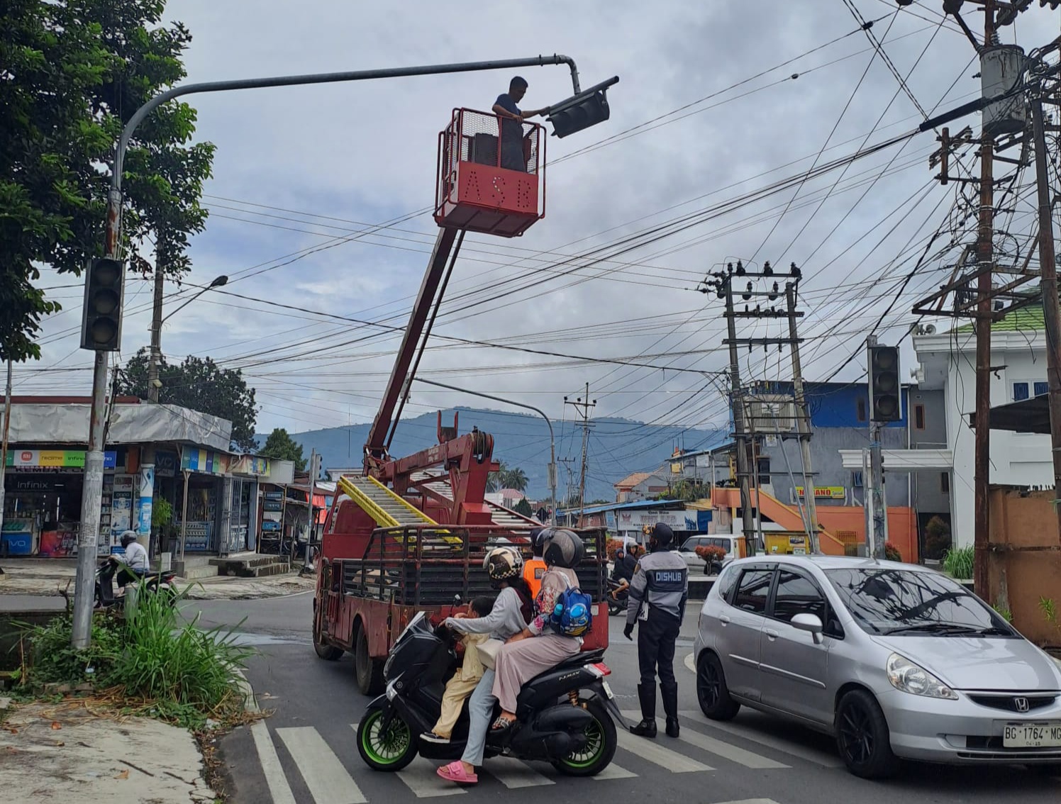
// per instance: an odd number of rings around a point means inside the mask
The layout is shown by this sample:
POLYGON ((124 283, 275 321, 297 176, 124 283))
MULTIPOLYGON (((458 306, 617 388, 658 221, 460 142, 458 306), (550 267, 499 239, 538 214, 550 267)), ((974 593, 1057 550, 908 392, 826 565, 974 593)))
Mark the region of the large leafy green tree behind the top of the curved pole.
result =
MULTIPOLYGON (((42 316, 58 302, 35 287, 39 265, 80 275, 103 252, 109 165, 122 127, 185 77, 191 34, 161 24, 164 0, 6 0, 0 6, 0 359, 39 357, 42 316)), ((171 101, 137 129, 123 171, 125 254, 155 233, 163 270, 189 268, 188 237, 214 147, 192 143, 195 110, 171 101)))

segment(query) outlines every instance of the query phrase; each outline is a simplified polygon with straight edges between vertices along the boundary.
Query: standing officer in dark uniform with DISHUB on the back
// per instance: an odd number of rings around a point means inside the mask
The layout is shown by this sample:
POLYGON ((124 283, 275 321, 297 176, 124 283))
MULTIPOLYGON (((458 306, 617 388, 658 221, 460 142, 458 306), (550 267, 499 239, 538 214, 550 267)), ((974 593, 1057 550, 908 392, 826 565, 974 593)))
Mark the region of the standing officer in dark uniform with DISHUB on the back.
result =
POLYGON ((623 631, 626 639, 632 640, 633 624, 641 621, 638 630, 638 663, 641 666, 638 698, 642 720, 630 730, 639 736, 656 736, 657 671, 666 715, 666 734, 668 737, 678 736, 674 646, 688 598, 689 567, 685 560, 674 552, 674 531, 668 525, 657 522, 649 532, 648 553, 641 557, 633 571, 623 631))

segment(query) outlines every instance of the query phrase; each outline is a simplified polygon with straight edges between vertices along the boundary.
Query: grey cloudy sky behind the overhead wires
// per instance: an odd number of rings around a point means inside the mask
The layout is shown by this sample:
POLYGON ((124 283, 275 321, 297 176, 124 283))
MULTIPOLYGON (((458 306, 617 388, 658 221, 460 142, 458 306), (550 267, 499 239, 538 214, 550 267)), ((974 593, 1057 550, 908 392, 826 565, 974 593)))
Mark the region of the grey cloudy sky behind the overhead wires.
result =
MULTIPOLYGON (((435 329, 561 356, 435 339, 421 374, 556 418, 564 395, 588 382, 597 415, 711 426, 726 420, 711 372, 727 359, 721 302, 696 292, 706 272, 736 259, 795 261, 804 277, 804 372, 815 380, 860 348, 897 294, 877 335, 898 342, 915 320, 912 301, 945 280, 945 260, 936 260, 901 286, 941 225, 934 254, 962 231, 950 214, 956 186, 932 181, 933 134, 793 182, 978 93, 972 46, 940 8, 939 0, 903 11, 893 0, 174 0, 167 16, 194 36, 192 82, 554 52, 576 59, 584 86, 619 75, 610 121, 550 138, 545 219, 520 239, 467 238, 435 329), (862 20, 873 21, 883 52, 862 20), (763 192, 779 182, 781 191, 763 192), (762 197, 742 200, 754 193, 762 197)), ((981 16, 967 8, 980 29, 981 16)), ((1059 16, 1032 8, 1003 40, 1044 43, 1059 16)), ((520 72, 530 84, 525 107, 571 92, 563 67, 520 72)), ((510 76, 190 98, 198 135, 218 153, 189 281, 225 274, 226 291, 256 300, 208 293, 167 322, 164 353, 243 368, 258 388, 259 431, 370 420, 398 337, 344 319, 404 324, 437 232, 429 212, 437 134, 453 107, 489 108, 510 76)), ((978 129, 971 117, 952 130, 966 122, 978 129)), ((45 274, 41 284, 70 281, 45 274)), ((54 296, 67 309, 47 322, 32 368, 73 370, 20 369, 16 390, 87 394, 80 290, 54 296)), ((149 340, 150 300, 150 282, 131 279, 126 359, 149 340)), ((776 322, 742 326, 749 335, 779 332, 776 322)), ((746 379, 790 375, 773 351, 741 360, 746 379)), ((837 377, 856 379, 862 364, 856 357, 837 377)), ((413 403, 419 414, 476 401, 417 389, 413 403)))

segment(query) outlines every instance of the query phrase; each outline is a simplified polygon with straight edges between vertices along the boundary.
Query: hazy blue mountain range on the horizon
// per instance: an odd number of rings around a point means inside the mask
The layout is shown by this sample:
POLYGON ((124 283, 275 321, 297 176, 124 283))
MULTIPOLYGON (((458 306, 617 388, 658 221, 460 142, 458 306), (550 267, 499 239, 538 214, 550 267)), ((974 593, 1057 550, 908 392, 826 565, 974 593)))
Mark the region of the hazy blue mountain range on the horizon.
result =
MULTIPOLYGON (((442 410, 442 423, 451 425, 454 414, 458 417, 460 434, 475 426, 493 436, 494 459, 526 473, 528 497, 549 497, 549 427, 541 417, 457 407, 442 410)), ((437 443, 437 414, 403 419, 395 433, 390 454, 396 457, 410 455, 437 443)), ((353 469, 361 467, 368 427, 367 423, 351 424, 290 435, 302 445, 307 458, 311 450, 316 450, 323 456, 325 469, 353 469)), ((553 422, 553 429, 558 465, 557 495, 562 500, 569 483, 575 490, 578 487, 582 431, 579 423, 571 421, 553 422)), ((719 442, 723 435, 718 431, 645 424, 629 419, 593 419, 586 447, 586 500, 612 501, 615 499, 612 484, 631 472, 657 469, 676 448, 705 449, 719 442)), ((258 442, 264 443, 267 434, 258 435, 258 442)))

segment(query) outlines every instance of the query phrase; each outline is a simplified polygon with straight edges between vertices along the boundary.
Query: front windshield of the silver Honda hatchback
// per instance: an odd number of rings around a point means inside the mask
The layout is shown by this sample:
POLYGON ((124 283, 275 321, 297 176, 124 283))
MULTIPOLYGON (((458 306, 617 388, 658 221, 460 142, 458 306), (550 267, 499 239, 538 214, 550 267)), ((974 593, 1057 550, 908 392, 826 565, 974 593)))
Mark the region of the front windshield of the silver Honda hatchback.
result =
POLYGON ((825 576, 855 621, 873 633, 1015 635, 964 587, 936 573, 858 567, 827 570, 825 576))

